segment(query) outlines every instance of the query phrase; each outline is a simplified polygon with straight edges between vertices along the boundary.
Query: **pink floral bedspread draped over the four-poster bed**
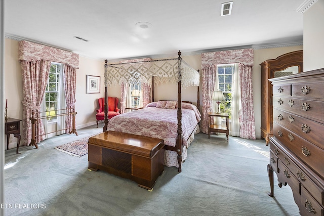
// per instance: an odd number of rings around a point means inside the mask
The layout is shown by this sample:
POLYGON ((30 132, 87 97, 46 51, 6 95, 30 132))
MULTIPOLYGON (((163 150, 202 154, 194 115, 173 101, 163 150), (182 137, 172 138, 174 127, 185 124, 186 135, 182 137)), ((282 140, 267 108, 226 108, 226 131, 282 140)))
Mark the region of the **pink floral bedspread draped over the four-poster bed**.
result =
MULTIPOLYGON (((164 140, 165 145, 175 146, 178 135, 177 110, 151 106, 123 113, 109 120, 107 131, 159 138, 164 140)), ((197 107, 182 103, 182 145, 188 145, 187 139, 199 121, 200 113, 197 107)))

